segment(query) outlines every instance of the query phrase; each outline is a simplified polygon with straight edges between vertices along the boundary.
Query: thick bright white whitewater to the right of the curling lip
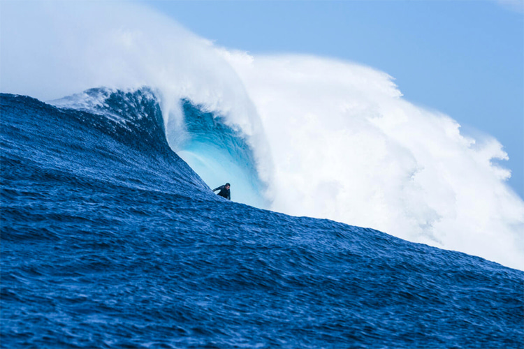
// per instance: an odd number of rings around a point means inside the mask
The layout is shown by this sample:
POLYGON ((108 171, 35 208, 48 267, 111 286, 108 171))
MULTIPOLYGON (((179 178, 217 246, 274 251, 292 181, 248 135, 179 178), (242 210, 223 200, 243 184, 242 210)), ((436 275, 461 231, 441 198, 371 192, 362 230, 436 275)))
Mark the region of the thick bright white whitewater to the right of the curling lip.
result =
POLYGON ((372 68, 242 53, 230 61, 268 135, 273 209, 523 267, 524 205, 492 162, 507 158, 497 140, 463 137, 372 68))

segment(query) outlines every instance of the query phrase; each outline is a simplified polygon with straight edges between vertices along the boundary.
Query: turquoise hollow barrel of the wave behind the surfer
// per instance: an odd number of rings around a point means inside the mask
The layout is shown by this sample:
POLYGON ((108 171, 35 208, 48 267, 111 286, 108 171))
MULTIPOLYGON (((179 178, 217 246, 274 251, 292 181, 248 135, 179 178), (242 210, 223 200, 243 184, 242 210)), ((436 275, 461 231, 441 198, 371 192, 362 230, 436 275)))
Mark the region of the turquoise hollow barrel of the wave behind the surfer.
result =
POLYGON ((256 170, 253 149, 247 139, 224 117, 206 112, 189 100, 182 100, 184 121, 189 138, 177 154, 211 188, 231 183, 231 200, 259 208, 268 208, 263 197, 267 186, 256 170))

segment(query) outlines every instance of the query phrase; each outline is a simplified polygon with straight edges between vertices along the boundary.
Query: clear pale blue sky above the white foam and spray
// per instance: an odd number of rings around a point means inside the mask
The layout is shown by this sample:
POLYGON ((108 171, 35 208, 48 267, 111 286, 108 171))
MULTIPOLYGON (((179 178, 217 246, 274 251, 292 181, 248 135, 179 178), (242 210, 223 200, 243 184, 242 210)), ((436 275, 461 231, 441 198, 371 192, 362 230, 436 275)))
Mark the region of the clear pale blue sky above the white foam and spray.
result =
POLYGON ((463 133, 504 144, 524 197, 524 14, 497 1, 146 1, 199 36, 253 54, 365 64, 463 133))

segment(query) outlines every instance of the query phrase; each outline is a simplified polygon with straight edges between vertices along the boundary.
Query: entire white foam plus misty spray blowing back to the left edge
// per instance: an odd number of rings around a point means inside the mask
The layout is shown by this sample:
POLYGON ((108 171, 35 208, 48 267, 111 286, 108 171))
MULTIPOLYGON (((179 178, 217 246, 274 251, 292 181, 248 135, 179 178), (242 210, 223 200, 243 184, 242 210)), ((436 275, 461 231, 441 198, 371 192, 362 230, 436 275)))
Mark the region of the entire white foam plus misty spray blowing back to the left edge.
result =
POLYGON ((189 98, 249 139, 272 209, 524 269, 524 202, 493 163, 507 158, 500 142, 465 138, 451 117, 405 101, 386 73, 226 50, 129 3, 0 6, 1 91, 49 100, 150 86, 182 154, 177 101, 189 98))

